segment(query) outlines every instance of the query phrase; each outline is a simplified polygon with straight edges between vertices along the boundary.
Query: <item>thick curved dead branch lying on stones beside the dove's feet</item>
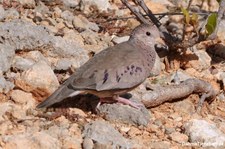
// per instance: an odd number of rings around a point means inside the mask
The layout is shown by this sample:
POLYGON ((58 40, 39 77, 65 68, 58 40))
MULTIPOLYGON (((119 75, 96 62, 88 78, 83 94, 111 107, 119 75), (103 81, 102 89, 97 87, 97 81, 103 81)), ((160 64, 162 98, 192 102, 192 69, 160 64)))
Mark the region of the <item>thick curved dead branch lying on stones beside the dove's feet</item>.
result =
POLYGON ((192 93, 202 94, 197 106, 197 110, 201 109, 205 99, 214 99, 216 96, 216 92, 210 83, 191 78, 178 85, 168 85, 164 87, 158 87, 157 90, 154 91, 148 91, 142 96, 142 103, 146 107, 155 107, 166 101, 173 101, 175 99, 183 98, 192 93))

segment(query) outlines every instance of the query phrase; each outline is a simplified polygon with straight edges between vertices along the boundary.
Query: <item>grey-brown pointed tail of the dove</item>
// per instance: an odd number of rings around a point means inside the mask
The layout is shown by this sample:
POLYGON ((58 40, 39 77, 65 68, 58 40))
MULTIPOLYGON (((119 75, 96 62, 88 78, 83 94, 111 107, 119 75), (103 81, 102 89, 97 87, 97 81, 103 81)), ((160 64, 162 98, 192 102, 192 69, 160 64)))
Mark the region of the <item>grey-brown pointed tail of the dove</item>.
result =
POLYGON ((60 86, 52 95, 37 105, 37 108, 47 108, 55 103, 62 101, 67 97, 76 96, 82 93, 82 91, 69 88, 67 85, 60 86))

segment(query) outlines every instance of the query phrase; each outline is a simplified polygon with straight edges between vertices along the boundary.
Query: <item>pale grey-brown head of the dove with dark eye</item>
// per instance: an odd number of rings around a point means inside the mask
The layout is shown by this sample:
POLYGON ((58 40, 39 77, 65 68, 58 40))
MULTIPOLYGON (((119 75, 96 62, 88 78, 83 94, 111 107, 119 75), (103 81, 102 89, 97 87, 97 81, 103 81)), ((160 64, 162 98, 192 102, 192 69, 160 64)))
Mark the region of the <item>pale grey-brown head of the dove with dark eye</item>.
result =
POLYGON ((147 46, 154 46, 159 39, 160 33, 158 28, 148 24, 137 26, 130 36, 130 40, 147 46))

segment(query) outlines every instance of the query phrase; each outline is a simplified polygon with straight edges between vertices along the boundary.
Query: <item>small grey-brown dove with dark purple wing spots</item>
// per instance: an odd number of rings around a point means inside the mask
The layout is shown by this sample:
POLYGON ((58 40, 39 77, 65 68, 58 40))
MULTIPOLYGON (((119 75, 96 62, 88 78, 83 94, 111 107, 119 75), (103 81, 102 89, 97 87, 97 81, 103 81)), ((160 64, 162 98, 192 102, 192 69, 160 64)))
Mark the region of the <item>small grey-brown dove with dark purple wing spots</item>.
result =
POLYGON ((98 96, 99 104, 110 99, 139 108, 140 104, 120 95, 136 88, 153 75, 158 57, 155 51, 157 39, 160 39, 157 27, 139 25, 132 31, 128 41, 96 54, 37 108, 47 108, 67 97, 88 93, 98 96))

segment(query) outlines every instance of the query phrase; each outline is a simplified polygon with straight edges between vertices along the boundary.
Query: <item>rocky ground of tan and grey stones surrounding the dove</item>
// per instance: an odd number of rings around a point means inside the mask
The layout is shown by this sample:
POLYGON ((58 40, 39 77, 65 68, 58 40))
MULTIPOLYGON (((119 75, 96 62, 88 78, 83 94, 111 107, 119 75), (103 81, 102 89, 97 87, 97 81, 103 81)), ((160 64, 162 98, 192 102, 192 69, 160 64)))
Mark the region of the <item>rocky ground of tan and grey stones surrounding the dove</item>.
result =
MULTIPOLYGON (((146 2, 154 13, 187 5, 146 2)), ((218 4, 205 2, 202 8, 215 11, 218 4)), ((199 44, 194 54, 174 56, 169 69, 162 56, 161 74, 131 92, 141 99, 146 84, 171 84, 175 72, 181 80, 203 79, 218 95, 201 113, 198 94, 140 110, 114 103, 96 111, 92 95, 35 108, 95 53, 127 40, 138 21, 112 19, 127 16, 120 0, 0 0, 0 148, 224 148, 224 21, 219 44, 209 42, 207 49, 208 43, 199 44)), ((179 28, 181 18, 162 22, 179 28)))

